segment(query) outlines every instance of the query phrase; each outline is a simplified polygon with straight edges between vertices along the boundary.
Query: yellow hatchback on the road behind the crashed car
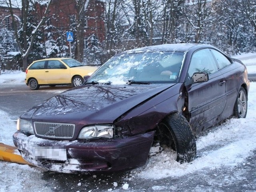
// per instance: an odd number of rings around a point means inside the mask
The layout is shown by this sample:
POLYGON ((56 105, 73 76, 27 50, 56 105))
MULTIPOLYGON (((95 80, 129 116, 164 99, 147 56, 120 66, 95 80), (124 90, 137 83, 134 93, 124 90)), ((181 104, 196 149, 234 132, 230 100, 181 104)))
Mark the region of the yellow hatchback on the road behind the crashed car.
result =
POLYGON ((79 86, 83 77, 91 75, 97 67, 85 66, 72 58, 50 58, 32 62, 26 69, 26 84, 32 90, 41 85, 79 86))

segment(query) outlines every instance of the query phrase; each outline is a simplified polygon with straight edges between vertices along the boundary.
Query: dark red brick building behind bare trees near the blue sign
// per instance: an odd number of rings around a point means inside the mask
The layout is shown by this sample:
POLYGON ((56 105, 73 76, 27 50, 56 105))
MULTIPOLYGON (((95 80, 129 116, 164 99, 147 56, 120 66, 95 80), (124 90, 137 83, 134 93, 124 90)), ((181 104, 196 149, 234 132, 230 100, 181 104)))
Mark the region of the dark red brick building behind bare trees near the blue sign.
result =
MULTIPOLYGON (((105 40, 104 6, 102 0, 88 0, 84 5, 86 9, 85 40, 92 34, 95 34, 100 42, 105 40)), ((41 6, 37 14, 42 15, 44 8, 41 6)), ((50 5, 50 23, 58 29, 70 31, 76 20, 76 14, 76 0, 53 0, 50 5)))

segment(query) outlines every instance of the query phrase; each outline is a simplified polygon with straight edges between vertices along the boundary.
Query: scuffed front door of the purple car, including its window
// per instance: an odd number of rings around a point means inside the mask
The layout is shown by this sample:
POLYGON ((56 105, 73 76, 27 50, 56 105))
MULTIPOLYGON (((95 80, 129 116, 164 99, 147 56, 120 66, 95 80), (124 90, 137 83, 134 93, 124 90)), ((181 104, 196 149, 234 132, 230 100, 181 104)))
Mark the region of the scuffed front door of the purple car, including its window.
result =
POLYGON ((198 50, 191 56, 186 82, 190 124, 196 132, 212 126, 226 104, 225 80, 208 48, 198 50), (192 83, 195 72, 208 73, 207 82, 192 83))

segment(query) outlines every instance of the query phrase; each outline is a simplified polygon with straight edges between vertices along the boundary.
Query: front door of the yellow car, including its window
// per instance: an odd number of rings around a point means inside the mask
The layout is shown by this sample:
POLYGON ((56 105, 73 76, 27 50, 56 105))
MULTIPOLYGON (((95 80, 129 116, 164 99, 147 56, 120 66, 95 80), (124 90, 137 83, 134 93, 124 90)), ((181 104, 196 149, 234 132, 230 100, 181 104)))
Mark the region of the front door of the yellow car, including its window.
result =
POLYGON ((58 60, 48 60, 45 78, 47 84, 68 84, 70 70, 58 60))

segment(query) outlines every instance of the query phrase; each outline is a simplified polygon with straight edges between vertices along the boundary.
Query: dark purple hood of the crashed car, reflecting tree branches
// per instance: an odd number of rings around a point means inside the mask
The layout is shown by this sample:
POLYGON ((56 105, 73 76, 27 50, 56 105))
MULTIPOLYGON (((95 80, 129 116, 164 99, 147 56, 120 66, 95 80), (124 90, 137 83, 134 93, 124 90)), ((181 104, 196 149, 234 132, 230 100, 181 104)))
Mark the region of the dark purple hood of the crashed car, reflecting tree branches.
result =
POLYGON ((173 85, 79 86, 35 106, 25 112, 21 118, 32 118, 34 121, 79 122, 84 125, 112 123, 125 112, 173 85))

